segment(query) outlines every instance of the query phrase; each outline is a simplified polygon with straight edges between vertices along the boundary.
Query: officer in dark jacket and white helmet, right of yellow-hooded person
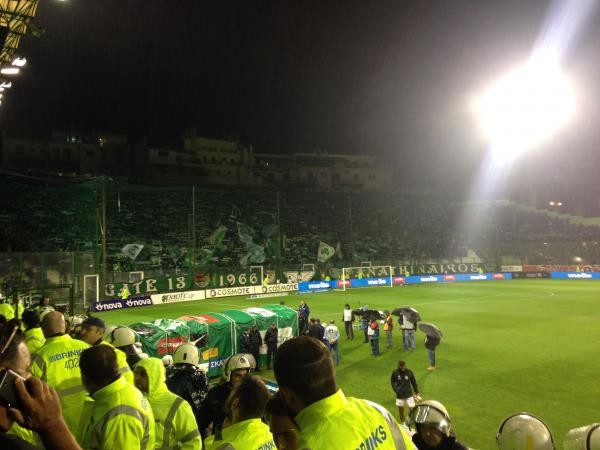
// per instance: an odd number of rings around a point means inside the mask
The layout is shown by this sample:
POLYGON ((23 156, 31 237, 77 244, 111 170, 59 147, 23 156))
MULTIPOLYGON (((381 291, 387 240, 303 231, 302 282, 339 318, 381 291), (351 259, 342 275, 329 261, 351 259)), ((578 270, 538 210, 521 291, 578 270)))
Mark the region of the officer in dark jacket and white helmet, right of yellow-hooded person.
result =
POLYGON ((167 368, 167 387, 192 407, 197 426, 200 424, 201 405, 208 394, 208 377, 198 366, 200 353, 194 344, 182 344, 173 354, 173 363, 167 368))

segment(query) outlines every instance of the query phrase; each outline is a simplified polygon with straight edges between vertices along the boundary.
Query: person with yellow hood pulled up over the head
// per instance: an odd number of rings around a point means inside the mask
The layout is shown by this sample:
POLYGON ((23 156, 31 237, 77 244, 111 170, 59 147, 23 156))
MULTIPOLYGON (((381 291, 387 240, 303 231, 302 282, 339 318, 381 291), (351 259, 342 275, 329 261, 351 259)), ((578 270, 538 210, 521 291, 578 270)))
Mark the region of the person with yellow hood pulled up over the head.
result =
POLYGON ((192 407, 167 388, 163 362, 158 358, 142 359, 135 366, 134 373, 135 386, 146 395, 152 407, 156 424, 156 448, 202 448, 200 430, 192 407))

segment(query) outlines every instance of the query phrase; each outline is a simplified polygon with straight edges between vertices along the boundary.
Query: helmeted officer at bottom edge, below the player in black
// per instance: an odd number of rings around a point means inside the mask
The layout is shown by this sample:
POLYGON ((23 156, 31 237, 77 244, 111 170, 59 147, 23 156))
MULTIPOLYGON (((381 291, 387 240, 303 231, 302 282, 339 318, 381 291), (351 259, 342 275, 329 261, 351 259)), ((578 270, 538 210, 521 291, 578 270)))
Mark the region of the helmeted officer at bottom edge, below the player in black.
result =
POLYGON ((468 450, 456 440, 448 411, 440 402, 417 404, 410 412, 410 425, 417 430, 412 440, 419 450, 468 450))

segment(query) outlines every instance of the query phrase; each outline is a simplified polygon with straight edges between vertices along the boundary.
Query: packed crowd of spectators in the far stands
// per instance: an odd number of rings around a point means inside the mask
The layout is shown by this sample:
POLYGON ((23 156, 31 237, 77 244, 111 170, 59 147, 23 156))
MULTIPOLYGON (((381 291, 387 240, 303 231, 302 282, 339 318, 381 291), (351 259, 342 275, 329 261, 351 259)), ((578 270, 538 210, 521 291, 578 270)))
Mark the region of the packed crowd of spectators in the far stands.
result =
POLYGON ((321 241, 336 248, 333 261, 340 266, 459 261, 473 254, 523 264, 566 264, 575 256, 588 263, 600 259, 599 227, 510 203, 473 207, 416 193, 192 192, 107 182, 103 222, 100 186, 95 181, 46 186, 0 177, 0 248, 91 251, 105 225, 107 260, 115 272, 189 267, 194 237, 196 264, 215 268, 275 262, 297 268, 316 261, 321 241), (23 205, 32 211, 25 226, 23 205), (470 208, 481 218, 476 228, 465 220, 470 208), (218 230, 222 236, 215 242, 218 230), (121 251, 132 243, 144 246, 135 259, 121 251))

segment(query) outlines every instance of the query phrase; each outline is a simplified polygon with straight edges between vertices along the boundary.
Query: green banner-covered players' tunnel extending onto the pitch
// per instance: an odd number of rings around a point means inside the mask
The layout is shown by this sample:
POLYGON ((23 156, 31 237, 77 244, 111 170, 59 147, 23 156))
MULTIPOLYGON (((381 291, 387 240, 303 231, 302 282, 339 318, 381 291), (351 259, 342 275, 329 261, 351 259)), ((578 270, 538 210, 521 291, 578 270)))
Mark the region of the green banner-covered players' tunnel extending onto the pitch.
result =
MULTIPOLYGON (((298 336, 297 313, 283 305, 190 314, 177 320, 138 322, 129 327, 135 331, 142 349, 150 356, 161 358, 175 353, 183 343, 195 344, 201 354, 200 364, 208 376, 213 377, 221 374, 223 363, 229 356, 240 351, 240 336, 246 328, 256 325, 264 338, 271 323, 277 324, 278 344, 298 336)), ((261 359, 265 358, 266 353, 267 347, 263 345, 260 349, 261 359)))

